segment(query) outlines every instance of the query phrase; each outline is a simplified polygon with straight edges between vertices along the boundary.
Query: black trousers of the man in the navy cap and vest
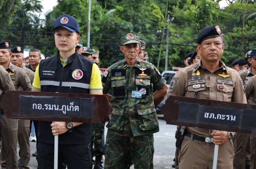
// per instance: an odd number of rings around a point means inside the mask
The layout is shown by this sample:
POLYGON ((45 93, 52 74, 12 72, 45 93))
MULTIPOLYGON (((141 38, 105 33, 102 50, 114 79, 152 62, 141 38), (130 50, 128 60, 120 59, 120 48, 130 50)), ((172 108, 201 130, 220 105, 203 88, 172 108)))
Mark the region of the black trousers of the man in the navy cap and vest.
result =
MULTIPOLYGON (((53 169, 54 144, 38 143, 37 145, 38 169, 53 169)), ((90 144, 59 144, 58 169, 65 161, 68 169, 90 169, 92 153, 90 144)))

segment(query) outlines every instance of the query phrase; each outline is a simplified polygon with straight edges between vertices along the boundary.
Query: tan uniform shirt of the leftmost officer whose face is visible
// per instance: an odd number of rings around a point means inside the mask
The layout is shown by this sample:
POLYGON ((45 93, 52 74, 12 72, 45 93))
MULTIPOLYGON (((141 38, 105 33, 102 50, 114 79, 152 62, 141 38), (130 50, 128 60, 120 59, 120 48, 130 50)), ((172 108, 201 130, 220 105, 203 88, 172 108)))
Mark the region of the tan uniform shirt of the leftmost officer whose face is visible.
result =
POLYGON ((10 62, 9 67, 6 69, 6 71, 10 74, 12 78, 15 90, 18 90, 21 87, 23 91, 31 91, 32 85, 25 70, 13 65, 10 62))

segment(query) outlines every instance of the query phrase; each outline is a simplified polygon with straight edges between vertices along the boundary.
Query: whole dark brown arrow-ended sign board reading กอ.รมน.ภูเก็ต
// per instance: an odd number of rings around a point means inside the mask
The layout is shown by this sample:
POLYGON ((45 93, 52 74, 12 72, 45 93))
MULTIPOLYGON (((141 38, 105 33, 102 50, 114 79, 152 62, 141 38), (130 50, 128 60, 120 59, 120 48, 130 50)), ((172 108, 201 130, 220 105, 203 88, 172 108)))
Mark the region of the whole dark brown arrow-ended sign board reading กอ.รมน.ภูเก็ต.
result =
POLYGON ((7 118, 93 124, 113 111, 106 95, 10 90, 0 107, 7 118))

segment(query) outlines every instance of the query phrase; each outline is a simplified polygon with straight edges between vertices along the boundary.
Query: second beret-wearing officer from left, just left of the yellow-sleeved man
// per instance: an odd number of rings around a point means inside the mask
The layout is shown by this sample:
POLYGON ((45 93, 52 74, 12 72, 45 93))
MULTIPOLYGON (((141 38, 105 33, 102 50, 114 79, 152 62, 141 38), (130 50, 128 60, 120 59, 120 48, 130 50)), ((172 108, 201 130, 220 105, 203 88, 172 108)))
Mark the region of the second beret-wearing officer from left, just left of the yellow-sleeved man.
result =
MULTIPOLYGON (((27 73, 30 83, 32 85, 35 72, 23 66, 23 48, 21 46, 15 46, 11 50, 12 56, 10 61, 13 65, 22 68, 27 73)), ((18 90, 23 90, 20 87, 18 90)), ((30 160, 30 145, 29 145, 29 126, 30 120, 18 120, 18 143, 20 145, 20 159, 19 159, 19 167, 20 168, 29 168, 29 160, 30 160)))

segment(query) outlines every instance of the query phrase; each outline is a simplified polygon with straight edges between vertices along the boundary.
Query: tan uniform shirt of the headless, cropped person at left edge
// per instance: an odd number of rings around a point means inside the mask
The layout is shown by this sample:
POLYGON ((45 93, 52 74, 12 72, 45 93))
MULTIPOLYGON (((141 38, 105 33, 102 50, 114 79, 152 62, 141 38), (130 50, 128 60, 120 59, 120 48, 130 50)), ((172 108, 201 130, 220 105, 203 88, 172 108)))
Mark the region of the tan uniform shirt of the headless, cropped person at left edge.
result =
POLYGON ((12 79, 8 72, 6 72, 5 68, 0 65, 0 89, 3 91, 0 91, 0 102, 4 98, 4 95, 6 93, 6 90, 15 90, 12 79))

